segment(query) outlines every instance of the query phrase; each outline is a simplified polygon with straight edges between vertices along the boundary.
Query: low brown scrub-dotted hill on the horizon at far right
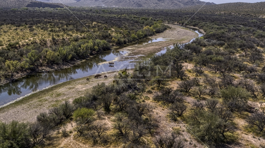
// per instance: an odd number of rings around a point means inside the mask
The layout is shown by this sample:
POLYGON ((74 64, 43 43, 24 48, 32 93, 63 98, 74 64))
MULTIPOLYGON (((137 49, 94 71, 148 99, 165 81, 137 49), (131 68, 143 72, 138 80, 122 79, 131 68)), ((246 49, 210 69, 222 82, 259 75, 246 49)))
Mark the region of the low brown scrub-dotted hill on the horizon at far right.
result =
MULTIPOLYGON (((196 12, 200 6, 190 6, 185 11, 196 12)), ((184 10, 184 9, 183 9, 184 10)), ((218 5, 208 5, 201 8, 199 13, 226 14, 236 16, 249 16, 265 18, 265 2, 246 3, 233 2, 218 5)))

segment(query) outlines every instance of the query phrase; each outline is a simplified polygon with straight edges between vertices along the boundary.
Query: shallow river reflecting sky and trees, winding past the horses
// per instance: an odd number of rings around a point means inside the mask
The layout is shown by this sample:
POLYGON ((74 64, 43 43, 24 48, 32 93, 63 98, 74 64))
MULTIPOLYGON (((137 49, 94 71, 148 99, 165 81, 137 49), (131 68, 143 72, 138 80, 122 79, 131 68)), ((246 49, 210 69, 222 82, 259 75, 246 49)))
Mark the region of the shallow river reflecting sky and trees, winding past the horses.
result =
MULTIPOLYGON (((198 29, 185 27, 198 33, 199 37, 203 36, 203 33, 198 29)), ((194 38, 195 39, 195 38, 194 38)), ((192 39, 190 42, 192 42, 192 39)), ((34 92, 49 88, 53 85, 82 78, 85 76, 91 76, 102 72, 112 72, 124 68, 134 68, 133 60, 119 61, 121 55, 126 56, 127 51, 122 51, 122 48, 133 46, 136 44, 147 44, 152 42, 164 41, 167 39, 150 39, 146 38, 144 41, 132 43, 123 47, 116 48, 112 51, 105 51, 100 55, 94 56, 90 60, 85 60, 80 64, 77 64, 70 68, 65 68, 60 71, 50 71, 48 73, 36 73, 24 76, 15 82, 7 83, 0 86, 0 108, 11 104, 14 101, 20 100, 34 92), (114 62, 114 66, 109 66, 108 62, 114 62)), ((165 48, 156 53, 165 53, 165 48)))

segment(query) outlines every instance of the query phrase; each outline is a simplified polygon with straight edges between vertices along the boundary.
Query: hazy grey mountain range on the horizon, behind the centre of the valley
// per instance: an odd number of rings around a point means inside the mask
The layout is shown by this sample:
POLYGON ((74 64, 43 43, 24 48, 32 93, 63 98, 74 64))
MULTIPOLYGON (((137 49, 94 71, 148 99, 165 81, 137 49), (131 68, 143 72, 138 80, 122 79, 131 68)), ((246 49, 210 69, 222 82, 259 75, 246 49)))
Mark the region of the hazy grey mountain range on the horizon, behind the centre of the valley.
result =
MULTIPOLYGON (((56 2, 59 0, 38 0, 42 2, 56 2)), ((68 6, 115 6, 130 8, 162 8, 175 9, 186 6, 204 5, 205 2, 199 0, 61 0, 68 6)), ((214 5, 207 2, 206 5, 214 5)))

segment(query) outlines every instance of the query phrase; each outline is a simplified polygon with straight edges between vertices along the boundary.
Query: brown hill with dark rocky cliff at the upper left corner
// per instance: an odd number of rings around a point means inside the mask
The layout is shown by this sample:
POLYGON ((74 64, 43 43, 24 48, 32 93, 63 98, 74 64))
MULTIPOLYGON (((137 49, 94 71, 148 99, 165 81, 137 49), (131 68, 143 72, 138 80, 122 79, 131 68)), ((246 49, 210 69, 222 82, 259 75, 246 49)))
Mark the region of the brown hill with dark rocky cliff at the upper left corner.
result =
POLYGON ((1 0, 0 8, 22 8, 22 7, 38 7, 38 8, 63 8, 62 4, 45 3, 34 0, 1 0))

